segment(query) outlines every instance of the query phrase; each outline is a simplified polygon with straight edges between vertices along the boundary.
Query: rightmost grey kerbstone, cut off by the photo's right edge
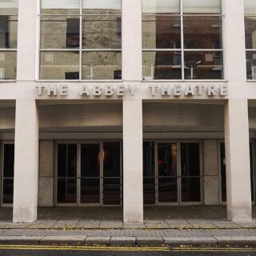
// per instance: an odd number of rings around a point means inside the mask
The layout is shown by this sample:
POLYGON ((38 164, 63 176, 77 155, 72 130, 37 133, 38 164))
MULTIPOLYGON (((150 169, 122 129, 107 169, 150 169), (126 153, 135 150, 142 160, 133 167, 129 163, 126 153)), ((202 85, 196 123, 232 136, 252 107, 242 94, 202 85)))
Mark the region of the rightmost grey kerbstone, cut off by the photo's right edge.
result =
POLYGON ((256 246, 256 237, 216 237, 218 246, 256 246))

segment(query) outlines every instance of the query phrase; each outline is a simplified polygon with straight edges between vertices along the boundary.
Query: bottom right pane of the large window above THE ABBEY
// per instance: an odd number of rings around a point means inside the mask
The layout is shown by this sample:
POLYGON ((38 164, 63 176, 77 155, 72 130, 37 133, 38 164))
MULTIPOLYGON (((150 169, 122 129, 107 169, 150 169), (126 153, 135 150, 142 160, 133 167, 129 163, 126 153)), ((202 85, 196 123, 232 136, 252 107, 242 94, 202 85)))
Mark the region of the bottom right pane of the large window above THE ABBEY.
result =
POLYGON ((121 51, 82 53, 82 79, 122 79, 121 51))

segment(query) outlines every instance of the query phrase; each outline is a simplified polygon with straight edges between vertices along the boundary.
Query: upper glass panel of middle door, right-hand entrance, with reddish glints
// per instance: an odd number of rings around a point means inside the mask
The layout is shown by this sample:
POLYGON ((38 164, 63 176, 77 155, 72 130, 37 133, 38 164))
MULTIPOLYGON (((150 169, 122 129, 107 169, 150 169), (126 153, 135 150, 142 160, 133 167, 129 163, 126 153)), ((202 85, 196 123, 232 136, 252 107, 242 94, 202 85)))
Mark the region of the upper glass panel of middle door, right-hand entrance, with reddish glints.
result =
POLYGON ((177 144, 158 144, 158 176, 177 176, 177 144))

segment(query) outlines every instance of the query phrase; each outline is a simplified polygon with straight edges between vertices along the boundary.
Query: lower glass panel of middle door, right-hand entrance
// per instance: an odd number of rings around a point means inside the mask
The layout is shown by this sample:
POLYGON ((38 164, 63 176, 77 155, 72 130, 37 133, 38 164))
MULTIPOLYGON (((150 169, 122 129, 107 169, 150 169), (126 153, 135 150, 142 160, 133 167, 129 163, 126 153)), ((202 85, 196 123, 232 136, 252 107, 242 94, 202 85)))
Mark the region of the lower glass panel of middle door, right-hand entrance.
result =
POLYGON ((177 202, 177 191, 177 178, 158 178, 158 202, 177 202))

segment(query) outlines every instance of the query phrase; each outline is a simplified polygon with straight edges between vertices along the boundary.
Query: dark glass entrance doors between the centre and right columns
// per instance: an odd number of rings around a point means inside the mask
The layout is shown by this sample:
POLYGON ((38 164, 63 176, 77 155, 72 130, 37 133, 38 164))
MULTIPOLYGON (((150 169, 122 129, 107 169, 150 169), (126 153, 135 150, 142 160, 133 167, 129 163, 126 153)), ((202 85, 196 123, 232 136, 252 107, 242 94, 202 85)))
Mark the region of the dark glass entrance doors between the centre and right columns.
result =
POLYGON ((144 142, 145 205, 201 204, 200 142, 144 142))

